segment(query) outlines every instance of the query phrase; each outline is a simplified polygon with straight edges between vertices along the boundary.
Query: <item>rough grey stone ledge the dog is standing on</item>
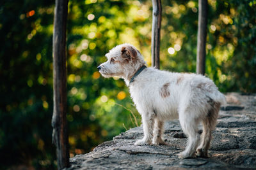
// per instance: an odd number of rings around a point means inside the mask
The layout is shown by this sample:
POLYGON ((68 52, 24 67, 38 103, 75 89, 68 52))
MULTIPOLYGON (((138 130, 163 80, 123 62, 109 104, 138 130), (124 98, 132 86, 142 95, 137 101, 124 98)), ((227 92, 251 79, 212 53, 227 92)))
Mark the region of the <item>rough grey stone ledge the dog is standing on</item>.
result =
POLYGON ((168 146, 134 146, 143 137, 142 127, 136 127, 100 144, 93 152, 76 155, 70 159, 72 167, 68 169, 255 169, 256 95, 226 96, 228 104, 221 108, 208 159, 177 157, 187 139, 175 120, 165 124, 164 138, 168 146))

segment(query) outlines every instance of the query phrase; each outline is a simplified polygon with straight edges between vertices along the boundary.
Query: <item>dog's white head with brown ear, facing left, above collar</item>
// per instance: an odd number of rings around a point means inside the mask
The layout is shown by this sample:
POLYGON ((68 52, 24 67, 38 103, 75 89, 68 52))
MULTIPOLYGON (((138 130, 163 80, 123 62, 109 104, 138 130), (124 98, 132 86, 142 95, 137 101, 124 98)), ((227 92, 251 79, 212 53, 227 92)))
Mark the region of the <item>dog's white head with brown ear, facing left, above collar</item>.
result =
POLYGON ((106 57, 108 61, 97 67, 106 78, 120 76, 127 79, 145 64, 141 53, 129 44, 115 46, 106 57))

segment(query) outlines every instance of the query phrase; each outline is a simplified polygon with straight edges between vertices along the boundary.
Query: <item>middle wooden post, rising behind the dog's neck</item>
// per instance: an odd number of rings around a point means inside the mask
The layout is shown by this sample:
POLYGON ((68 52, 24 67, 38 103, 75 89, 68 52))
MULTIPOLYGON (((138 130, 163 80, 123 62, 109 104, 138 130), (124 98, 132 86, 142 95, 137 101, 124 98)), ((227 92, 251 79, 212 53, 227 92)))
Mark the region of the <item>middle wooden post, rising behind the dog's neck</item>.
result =
POLYGON ((152 53, 152 67, 160 68, 160 31, 161 31, 161 17, 162 4, 161 0, 152 0, 152 38, 151 38, 151 53, 152 53))

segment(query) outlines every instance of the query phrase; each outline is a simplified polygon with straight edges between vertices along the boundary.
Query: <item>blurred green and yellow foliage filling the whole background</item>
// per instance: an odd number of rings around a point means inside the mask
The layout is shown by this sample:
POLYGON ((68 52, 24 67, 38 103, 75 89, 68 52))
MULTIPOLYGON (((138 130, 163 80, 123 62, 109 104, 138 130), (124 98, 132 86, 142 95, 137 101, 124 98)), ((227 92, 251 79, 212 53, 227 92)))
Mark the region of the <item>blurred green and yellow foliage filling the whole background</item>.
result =
MULTIPOLYGON (((195 72, 197 1, 163 1, 161 69, 195 72)), ((0 160, 56 167, 51 144, 53 1, 0 3, 0 160)), ((255 1, 209 1, 206 73, 222 92, 256 92, 255 1)), ((97 66, 120 43, 151 64, 151 1, 70 0, 67 120, 70 156, 135 127, 140 115, 123 80, 97 66), (134 115, 132 115, 134 114, 134 115)))

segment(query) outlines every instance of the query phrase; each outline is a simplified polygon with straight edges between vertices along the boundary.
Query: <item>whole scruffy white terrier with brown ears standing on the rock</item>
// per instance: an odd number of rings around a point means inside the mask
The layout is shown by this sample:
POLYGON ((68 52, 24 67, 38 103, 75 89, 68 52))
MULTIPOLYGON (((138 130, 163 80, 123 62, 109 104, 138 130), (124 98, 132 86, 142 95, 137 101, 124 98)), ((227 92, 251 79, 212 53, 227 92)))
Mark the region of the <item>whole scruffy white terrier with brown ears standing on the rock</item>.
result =
POLYGON ((220 105, 225 104, 212 80, 200 74, 172 73, 146 67, 141 53, 132 45, 118 45, 100 64, 102 76, 120 76, 142 117, 144 137, 134 145, 166 144, 162 138, 164 121, 179 118, 188 136, 188 145, 180 158, 208 157, 211 131, 215 129, 220 105), (200 139, 198 124, 202 122, 200 139))

